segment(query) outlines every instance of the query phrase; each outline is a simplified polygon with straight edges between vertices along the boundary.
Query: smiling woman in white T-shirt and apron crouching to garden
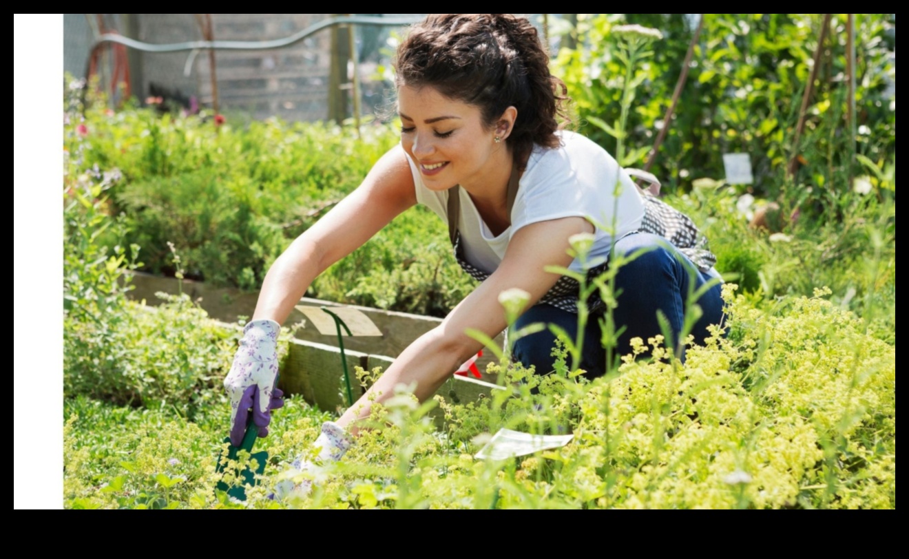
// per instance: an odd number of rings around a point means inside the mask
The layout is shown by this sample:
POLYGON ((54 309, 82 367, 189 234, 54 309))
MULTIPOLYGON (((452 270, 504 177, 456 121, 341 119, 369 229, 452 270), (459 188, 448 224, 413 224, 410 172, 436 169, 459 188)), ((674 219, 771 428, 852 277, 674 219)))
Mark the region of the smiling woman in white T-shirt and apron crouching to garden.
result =
MULTIPOLYGON (((684 215, 643 195, 603 148, 560 129, 564 85, 550 75, 544 47, 526 19, 429 15, 399 46, 395 69, 400 145, 295 239, 265 276, 225 379, 235 444, 249 408, 260 436, 267 434, 270 410, 280 405, 274 388, 280 324, 315 277, 417 204, 448 223, 458 263, 482 283, 442 324, 410 344, 345 414, 323 425, 315 442, 319 460, 345 454, 356 421, 369 415, 371 397, 383 402, 402 383, 415 384, 421 401, 435 394, 481 349, 465 331, 493 338, 504 330, 498 296, 505 290, 529 295, 515 328, 557 324, 574 337, 578 283, 545 272, 546 266, 593 277, 606 270, 608 256, 641 251, 615 278, 620 295, 614 320, 624 326, 617 340, 620 354, 630 353, 631 338, 661 333, 658 311, 677 339, 688 294, 712 281, 697 300, 703 314, 694 324, 695 341, 703 342, 707 326, 720 323, 720 286, 703 237, 684 215), (566 252, 569 238, 579 234, 592 239, 585 263, 566 252), (596 265, 586 269, 590 262, 596 265)), ((585 326, 580 366, 597 376, 604 374, 605 354, 595 314, 604 304, 594 294, 588 305, 594 319, 585 326)), ((546 374, 553 370, 553 346, 549 330, 530 334, 515 342, 514 359, 546 374)), ((310 465, 294 463, 297 469, 310 465)))

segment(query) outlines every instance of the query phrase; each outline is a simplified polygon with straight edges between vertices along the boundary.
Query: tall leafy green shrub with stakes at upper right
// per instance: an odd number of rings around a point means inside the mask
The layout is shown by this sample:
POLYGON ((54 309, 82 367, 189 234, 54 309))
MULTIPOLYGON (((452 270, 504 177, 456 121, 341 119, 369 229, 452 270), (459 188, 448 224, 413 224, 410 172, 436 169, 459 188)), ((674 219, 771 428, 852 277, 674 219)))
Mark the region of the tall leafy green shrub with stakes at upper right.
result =
MULTIPOLYGON (((581 132, 611 151, 615 139, 607 131, 619 119, 623 85, 611 29, 627 20, 659 29, 665 37, 653 45, 654 57, 644 65, 626 128, 625 143, 638 154, 630 165, 643 166, 647 148, 664 125, 696 19, 683 14, 578 16, 580 45, 554 57, 554 73, 574 99, 581 132)), ((804 133, 794 146, 822 15, 704 15, 687 83, 673 122, 665 124, 670 128, 653 168, 664 179, 664 190, 687 191, 702 176, 722 178, 722 155, 743 152, 754 165, 754 195, 782 197, 787 211, 800 205, 805 213, 832 209, 828 196, 849 190, 847 177, 859 171, 857 165, 850 168, 844 116, 844 19, 834 15, 804 133), (804 163, 794 180, 786 181, 784 170, 795 153, 804 156, 804 163)), ((886 93, 888 81, 895 80, 895 20, 894 15, 873 14, 858 15, 855 21, 857 150, 878 161, 894 154, 896 142, 895 99, 886 93)))

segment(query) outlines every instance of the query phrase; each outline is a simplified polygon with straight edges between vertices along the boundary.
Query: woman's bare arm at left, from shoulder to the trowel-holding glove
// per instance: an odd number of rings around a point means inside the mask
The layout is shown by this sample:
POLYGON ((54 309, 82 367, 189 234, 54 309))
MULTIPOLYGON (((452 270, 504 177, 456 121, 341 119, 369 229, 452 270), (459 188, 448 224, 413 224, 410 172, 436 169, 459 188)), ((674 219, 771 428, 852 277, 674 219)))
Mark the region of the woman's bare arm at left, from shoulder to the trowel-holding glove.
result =
POLYGON ((283 324, 316 276, 415 204, 414 178, 404 150, 396 145, 376 162, 362 185, 275 260, 265 275, 253 319, 283 324))

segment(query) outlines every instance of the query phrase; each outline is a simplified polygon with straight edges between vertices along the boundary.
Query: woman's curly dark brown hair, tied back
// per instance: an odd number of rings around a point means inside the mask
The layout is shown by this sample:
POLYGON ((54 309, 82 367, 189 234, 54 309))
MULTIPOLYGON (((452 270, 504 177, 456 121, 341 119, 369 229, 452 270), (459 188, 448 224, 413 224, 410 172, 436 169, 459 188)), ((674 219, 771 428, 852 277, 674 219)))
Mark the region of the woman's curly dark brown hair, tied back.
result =
POLYGON ((428 15, 398 46, 395 70, 398 86, 428 85, 479 107, 490 129, 514 105, 517 119, 506 143, 521 168, 534 145, 558 146, 558 119, 569 120, 567 88, 549 73, 534 25, 518 15, 428 15))

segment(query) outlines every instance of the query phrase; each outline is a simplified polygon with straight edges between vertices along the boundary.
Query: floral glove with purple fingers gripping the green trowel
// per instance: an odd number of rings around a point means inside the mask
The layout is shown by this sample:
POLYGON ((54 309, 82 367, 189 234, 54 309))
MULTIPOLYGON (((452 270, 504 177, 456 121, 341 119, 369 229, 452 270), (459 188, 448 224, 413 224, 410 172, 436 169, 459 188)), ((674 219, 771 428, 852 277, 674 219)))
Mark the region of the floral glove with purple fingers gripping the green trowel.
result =
POLYGON ((230 442, 243 443, 250 409, 253 424, 260 437, 268 434, 271 410, 284 405, 284 395, 275 388, 278 374, 277 343, 281 325, 274 320, 254 320, 243 329, 240 349, 234 364, 225 378, 225 389, 230 396, 230 442))

